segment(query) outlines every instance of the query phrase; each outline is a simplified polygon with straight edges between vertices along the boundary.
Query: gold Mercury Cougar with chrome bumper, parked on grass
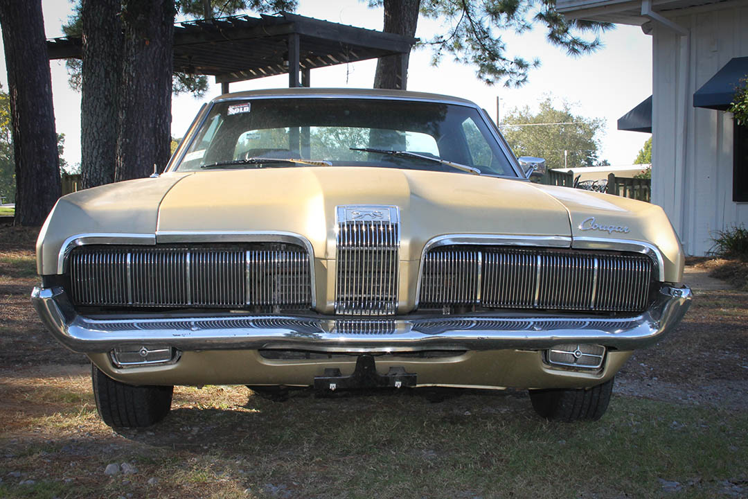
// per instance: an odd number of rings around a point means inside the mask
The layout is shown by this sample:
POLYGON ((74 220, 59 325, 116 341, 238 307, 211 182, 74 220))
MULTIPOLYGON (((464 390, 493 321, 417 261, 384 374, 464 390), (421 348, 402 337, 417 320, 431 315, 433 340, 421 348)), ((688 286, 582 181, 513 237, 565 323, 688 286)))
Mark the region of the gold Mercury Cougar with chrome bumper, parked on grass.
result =
POLYGON ((535 170, 467 100, 224 95, 161 175, 58 200, 32 300, 114 427, 206 384, 511 387, 596 420, 686 312, 683 252, 659 206, 535 170))

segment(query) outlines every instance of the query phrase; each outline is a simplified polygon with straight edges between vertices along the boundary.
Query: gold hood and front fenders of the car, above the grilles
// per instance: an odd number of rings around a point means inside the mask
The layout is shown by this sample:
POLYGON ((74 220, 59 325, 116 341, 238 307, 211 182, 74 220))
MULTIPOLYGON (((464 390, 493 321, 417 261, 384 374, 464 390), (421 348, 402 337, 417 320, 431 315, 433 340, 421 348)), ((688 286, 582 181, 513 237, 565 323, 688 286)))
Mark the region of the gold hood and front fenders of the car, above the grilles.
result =
POLYGON ((335 208, 357 204, 399 206, 401 260, 420 259, 429 239, 451 234, 561 236, 565 245, 608 249, 626 239, 660 250, 666 281, 682 275, 680 243, 650 203, 496 177, 348 167, 176 172, 76 192, 58 200, 42 228, 37 270, 59 272, 61 250, 88 233, 159 241, 174 232, 283 231, 332 259, 335 208))

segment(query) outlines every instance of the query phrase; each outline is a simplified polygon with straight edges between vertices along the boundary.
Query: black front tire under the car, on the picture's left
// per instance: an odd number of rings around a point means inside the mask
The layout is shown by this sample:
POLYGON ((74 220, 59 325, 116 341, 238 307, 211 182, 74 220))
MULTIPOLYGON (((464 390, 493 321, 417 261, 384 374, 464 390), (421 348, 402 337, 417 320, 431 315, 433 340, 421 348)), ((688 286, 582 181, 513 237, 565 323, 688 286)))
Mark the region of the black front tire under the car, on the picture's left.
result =
POLYGON ((173 386, 133 386, 114 381, 91 364, 96 409, 112 428, 144 428, 164 419, 171 409, 173 386))

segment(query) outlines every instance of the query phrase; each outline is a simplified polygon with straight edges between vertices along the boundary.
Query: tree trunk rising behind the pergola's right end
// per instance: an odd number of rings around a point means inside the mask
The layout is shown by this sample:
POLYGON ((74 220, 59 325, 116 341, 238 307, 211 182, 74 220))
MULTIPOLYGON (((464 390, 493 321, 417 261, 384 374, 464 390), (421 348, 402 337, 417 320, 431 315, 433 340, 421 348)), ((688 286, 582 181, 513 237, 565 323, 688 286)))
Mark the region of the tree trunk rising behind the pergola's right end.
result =
MULTIPOLYGON (((385 33, 416 35, 420 0, 384 0, 385 33)), ((379 58, 374 75, 374 88, 399 88, 405 90, 408 82, 410 53, 379 58), (404 73, 404 74, 403 74, 404 73)))

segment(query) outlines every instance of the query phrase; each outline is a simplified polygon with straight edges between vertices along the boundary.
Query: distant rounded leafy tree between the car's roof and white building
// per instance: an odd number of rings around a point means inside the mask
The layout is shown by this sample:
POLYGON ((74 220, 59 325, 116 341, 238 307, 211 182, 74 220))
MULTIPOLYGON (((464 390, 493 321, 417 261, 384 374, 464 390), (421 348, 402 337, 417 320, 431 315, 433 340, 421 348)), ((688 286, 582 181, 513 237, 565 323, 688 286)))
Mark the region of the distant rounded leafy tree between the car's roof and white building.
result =
POLYGON ((537 113, 527 106, 515 108, 503 118, 501 126, 517 156, 545 158, 548 168, 598 164, 598 133, 604 129, 604 120, 574 114, 568 102, 555 108, 547 96, 540 101, 537 113))

